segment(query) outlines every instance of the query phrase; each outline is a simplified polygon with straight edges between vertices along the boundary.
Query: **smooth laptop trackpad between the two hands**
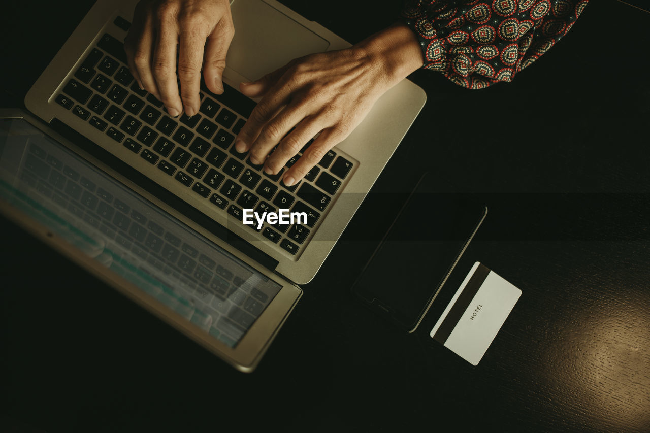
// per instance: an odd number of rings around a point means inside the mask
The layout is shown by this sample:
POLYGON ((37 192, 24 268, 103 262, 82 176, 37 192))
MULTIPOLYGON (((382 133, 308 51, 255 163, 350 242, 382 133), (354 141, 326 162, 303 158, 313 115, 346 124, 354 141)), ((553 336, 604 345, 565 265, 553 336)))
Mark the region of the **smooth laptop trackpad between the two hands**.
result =
POLYGON ((250 81, 289 60, 330 46, 330 42, 262 0, 235 0, 231 11, 235 37, 226 64, 250 81))

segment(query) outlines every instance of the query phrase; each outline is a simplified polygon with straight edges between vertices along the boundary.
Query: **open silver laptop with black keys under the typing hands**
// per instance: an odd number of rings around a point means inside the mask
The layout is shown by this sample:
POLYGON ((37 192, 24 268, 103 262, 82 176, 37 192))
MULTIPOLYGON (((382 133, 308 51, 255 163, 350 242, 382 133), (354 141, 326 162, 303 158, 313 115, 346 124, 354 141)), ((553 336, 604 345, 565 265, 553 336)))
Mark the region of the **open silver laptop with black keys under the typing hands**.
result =
MULTIPOLYGON (((233 141, 237 90, 343 39, 273 0, 233 0, 223 95, 170 118, 123 52, 133 1, 98 0, 29 90, 0 111, 0 209, 240 371, 253 371, 424 105, 402 81, 287 188, 233 141), (270 36, 272 35, 272 36, 270 36), (271 42, 271 43, 270 43, 271 42), (302 215, 244 224, 244 209, 302 215)), ((300 153, 289 163, 300 157, 300 153)))

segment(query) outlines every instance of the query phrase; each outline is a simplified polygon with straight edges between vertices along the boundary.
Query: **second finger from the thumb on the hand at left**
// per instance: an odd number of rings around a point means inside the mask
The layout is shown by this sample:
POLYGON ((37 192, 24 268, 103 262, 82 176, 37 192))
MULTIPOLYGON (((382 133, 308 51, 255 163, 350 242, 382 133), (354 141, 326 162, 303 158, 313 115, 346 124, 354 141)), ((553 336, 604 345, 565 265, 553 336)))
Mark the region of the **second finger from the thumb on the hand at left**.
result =
POLYGON ((161 20, 155 47, 153 47, 153 78, 158 88, 159 99, 167 112, 178 116, 183 110, 183 103, 178 94, 176 82, 176 42, 178 33, 170 21, 161 20))

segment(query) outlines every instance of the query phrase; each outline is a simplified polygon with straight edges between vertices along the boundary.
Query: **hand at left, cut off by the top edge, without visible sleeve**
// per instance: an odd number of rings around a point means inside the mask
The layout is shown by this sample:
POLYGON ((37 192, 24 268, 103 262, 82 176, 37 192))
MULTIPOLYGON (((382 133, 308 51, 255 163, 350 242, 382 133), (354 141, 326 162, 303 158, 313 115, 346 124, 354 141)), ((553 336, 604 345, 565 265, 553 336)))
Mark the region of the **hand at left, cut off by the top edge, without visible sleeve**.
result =
POLYGON ((228 0, 141 0, 124 51, 138 85, 160 99, 170 115, 185 109, 194 116, 201 70, 211 92, 224 92, 222 75, 234 34, 228 0))

